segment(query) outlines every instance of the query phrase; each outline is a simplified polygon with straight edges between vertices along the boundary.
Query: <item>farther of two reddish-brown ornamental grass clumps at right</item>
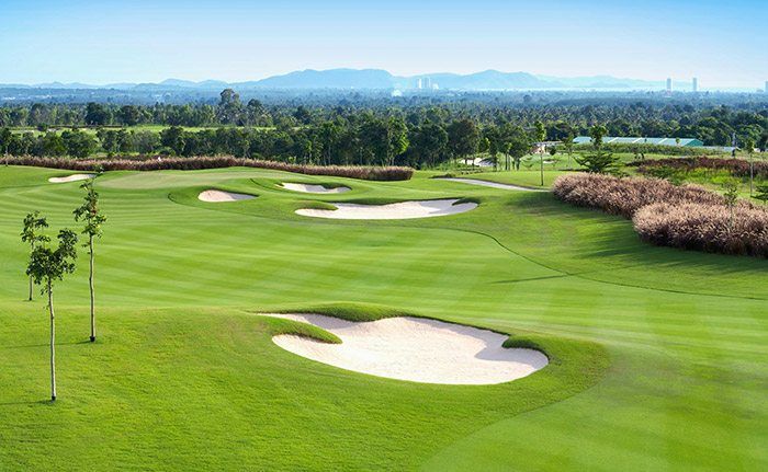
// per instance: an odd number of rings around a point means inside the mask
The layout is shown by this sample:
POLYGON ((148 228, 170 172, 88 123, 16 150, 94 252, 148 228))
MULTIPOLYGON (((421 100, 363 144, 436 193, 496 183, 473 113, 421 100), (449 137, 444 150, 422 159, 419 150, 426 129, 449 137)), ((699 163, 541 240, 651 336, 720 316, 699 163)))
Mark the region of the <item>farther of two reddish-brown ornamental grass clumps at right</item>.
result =
POLYGON ((625 218, 632 218, 640 208, 657 203, 724 204, 720 195, 703 187, 677 186, 662 179, 571 174, 557 177, 552 191, 557 198, 572 205, 598 208, 625 218))

